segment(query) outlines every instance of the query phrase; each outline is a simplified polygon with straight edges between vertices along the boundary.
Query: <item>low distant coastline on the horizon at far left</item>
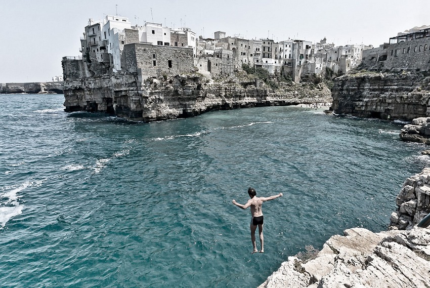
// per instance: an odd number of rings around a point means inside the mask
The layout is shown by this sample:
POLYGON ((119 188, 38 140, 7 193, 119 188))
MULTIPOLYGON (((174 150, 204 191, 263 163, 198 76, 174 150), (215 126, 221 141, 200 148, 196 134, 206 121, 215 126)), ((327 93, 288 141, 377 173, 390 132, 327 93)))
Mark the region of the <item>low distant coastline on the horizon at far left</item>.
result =
POLYGON ((0 83, 0 94, 63 94, 63 81, 0 83))

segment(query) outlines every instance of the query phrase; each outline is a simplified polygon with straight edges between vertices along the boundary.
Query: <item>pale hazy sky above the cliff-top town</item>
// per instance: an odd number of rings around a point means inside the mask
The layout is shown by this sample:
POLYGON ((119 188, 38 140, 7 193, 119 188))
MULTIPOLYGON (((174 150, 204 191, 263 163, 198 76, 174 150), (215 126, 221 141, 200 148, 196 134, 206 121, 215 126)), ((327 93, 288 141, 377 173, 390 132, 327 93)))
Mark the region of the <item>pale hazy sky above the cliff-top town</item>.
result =
POLYGON ((398 32, 430 25, 429 0, 0 0, 0 83, 51 81, 61 59, 80 55, 89 18, 128 17, 132 25, 186 26, 196 35, 288 38, 378 47, 398 32))

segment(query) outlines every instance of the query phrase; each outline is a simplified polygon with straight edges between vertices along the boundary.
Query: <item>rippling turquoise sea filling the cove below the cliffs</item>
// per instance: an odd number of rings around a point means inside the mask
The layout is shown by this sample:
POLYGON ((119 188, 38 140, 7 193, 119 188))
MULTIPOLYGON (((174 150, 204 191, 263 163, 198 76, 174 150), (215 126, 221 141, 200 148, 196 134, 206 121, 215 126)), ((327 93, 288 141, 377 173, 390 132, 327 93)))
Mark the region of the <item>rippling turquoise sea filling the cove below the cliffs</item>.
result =
POLYGON ((1 287, 255 287, 305 245, 386 229, 429 166, 403 124, 262 107, 131 122, 0 96, 1 287), (263 204, 251 255, 247 188, 263 204), (257 244, 259 244, 257 237, 257 244))

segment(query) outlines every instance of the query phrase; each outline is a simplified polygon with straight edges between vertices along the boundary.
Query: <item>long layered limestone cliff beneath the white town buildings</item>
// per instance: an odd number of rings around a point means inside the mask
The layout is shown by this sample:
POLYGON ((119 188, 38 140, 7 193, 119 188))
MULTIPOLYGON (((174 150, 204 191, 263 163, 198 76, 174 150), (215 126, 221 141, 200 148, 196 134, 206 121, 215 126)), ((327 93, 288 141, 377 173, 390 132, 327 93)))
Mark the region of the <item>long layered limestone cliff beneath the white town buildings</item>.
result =
POLYGON ((142 80, 130 72, 66 80, 64 97, 66 111, 103 111, 144 121, 240 107, 331 102, 330 91, 322 83, 288 82, 270 88, 263 81, 235 76, 163 75, 142 80))

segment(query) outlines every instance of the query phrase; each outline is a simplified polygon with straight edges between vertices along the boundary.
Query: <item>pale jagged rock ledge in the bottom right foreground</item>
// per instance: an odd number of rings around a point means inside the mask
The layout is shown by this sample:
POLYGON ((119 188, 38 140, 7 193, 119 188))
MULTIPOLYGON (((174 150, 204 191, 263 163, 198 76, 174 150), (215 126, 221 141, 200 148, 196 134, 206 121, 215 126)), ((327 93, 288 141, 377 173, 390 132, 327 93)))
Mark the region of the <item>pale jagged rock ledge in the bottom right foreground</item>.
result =
POLYGON ((430 229, 345 230, 316 259, 288 257, 259 288, 430 287, 430 229))

